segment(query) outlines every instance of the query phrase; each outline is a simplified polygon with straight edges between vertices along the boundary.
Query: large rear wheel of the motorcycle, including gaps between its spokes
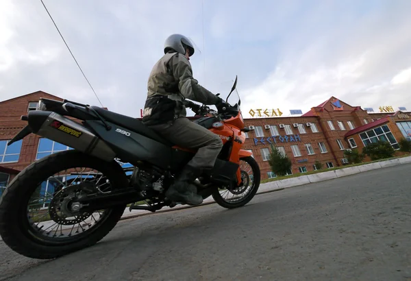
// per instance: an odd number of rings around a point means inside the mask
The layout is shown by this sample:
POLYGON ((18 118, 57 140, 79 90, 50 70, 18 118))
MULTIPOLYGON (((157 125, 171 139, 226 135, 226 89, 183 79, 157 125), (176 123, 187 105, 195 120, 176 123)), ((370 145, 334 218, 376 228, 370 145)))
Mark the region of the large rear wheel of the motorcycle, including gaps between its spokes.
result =
POLYGON ((121 219, 125 205, 80 212, 75 199, 125 186, 127 178, 115 161, 75 150, 51 154, 21 171, 0 197, 0 235, 29 258, 57 258, 95 245, 121 219))

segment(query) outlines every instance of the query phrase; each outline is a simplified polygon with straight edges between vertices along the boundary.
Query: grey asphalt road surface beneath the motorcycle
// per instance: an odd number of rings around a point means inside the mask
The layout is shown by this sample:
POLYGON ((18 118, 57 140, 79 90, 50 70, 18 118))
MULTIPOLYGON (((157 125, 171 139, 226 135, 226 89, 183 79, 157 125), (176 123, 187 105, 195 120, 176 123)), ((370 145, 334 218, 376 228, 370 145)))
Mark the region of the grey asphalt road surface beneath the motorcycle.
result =
POLYGON ((0 280, 411 280, 411 164, 119 222, 30 260, 0 241, 0 280))

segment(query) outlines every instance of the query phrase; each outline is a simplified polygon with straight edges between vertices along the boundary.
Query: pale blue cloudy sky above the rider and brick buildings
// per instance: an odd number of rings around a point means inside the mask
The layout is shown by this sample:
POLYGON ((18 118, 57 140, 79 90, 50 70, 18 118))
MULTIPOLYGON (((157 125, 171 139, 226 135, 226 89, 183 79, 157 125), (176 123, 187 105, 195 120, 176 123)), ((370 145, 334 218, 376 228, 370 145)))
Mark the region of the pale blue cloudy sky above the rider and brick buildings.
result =
MULTIPOLYGON (((226 97, 238 75, 244 117, 306 112, 331 96, 411 110, 409 0, 43 1, 114 112, 140 117, 173 33, 197 45, 193 75, 212 93, 226 97)), ((100 106, 40 0, 0 1, 0 77, 0 101, 42 90, 100 106)))

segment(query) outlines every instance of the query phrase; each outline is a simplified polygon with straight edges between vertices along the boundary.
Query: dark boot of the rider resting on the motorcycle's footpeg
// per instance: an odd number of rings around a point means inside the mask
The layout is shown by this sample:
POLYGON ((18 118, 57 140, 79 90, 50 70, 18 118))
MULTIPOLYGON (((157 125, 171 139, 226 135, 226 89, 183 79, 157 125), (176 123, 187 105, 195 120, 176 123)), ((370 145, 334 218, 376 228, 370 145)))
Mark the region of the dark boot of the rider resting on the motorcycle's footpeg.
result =
POLYGON ((173 202, 183 202, 188 205, 203 203, 203 197, 197 194, 197 187, 193 182, 201 175, 201 170, 186 165, 169 189, 166 197, 173 202))

